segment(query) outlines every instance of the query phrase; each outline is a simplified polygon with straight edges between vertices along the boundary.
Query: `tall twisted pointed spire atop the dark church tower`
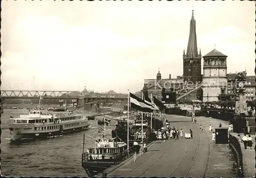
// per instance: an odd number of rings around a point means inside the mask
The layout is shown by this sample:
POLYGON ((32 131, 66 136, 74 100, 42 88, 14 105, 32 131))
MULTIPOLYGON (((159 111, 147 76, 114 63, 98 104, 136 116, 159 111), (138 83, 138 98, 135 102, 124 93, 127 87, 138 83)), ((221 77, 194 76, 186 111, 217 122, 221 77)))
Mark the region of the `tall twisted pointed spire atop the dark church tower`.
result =
POLYGON ((189 32, 189 38, 187 43, 187 53, 186 55, 198 55, 198 49, 197 49, 197 33, 196 33, 196 20, 194 17, 194 10, 192 10, 192 16, 190 20, 190 32, 189 32))

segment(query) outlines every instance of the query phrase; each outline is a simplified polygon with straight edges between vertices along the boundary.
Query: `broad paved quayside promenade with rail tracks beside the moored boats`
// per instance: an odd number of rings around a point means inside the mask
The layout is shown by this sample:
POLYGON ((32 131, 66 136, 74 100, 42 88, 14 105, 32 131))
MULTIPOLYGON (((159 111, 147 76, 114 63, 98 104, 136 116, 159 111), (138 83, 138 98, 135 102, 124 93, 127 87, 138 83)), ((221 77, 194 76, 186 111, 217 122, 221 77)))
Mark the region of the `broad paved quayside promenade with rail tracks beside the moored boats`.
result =
MULTIPOLYGON (((137 154, 135 162, 132 157, 121 165, 109 168, 105 170, 106 176, 237 176, 229 145, 218 145, 211 141, 211 133, 207 128, 209 124, 219 125, 218 119, 202 119, 205 127, 202 133, 199 125, 192 123, 190 117, 167 115, 167 119, 172 128, 175 126, 176 129, 183 129, 183 135, 191 129, 193 139, 155 141, 141 157, 137 154)), ((222 125, 224 127, 227 123, 222 121, 222 125)))

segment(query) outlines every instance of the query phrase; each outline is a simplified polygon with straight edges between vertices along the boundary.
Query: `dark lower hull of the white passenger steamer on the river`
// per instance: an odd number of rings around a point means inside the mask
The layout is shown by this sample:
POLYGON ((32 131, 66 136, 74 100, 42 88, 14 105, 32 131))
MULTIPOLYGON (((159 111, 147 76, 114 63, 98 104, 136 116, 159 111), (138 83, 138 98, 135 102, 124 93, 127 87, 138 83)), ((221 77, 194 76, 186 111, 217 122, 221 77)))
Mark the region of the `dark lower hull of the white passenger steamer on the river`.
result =
MULTIPOLYGON (((38 132, 38 131, 32 131, 32 132, 23 132, 24 130, 15 130, 16 126, 15 124, 11 125, 9 128, 10 134, 12 136, 12 141, 20 141, 23 139, 46 139, 53 136, 59 136, 63 134, 71 134, 81 131, 86 131, 90 129, 90 124, 88 125, 81 125, 77 128, 70 128, 70 129, 63 129, 63 130, 53 130, 53 131, 45 131, 45 132, 38 132)), ((29 126, 27 126, 25 129, 32 130, 29 126)))

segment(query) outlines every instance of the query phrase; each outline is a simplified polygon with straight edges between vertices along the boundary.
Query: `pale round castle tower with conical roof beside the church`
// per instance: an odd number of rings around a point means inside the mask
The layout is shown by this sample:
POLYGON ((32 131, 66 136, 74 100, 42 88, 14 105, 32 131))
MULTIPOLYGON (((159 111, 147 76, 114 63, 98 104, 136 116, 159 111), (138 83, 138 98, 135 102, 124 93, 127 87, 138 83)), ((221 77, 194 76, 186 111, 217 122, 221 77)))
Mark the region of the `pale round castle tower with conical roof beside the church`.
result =
POLYGON ((227 56, 214 49, 203 58, 203 102, 218 101, 227 93, 227 56))

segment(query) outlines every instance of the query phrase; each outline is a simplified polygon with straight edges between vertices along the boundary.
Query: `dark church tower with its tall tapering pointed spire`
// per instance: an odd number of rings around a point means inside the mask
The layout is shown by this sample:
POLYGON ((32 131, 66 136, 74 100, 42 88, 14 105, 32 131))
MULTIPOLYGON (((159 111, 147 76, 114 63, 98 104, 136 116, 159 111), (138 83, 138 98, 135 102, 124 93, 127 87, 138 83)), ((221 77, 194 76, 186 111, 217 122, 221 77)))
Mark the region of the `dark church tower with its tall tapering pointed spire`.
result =
POLYGON ((184 81, 196 82, 202 81, 201 74, 201 49, 198 54, 197 48, 197 33, 196 33, 196 20, 194 17, 194 10, 190 20, 190 32, 187 44, 187 51, 183 50, 183 79, 184 81))

